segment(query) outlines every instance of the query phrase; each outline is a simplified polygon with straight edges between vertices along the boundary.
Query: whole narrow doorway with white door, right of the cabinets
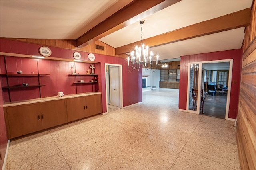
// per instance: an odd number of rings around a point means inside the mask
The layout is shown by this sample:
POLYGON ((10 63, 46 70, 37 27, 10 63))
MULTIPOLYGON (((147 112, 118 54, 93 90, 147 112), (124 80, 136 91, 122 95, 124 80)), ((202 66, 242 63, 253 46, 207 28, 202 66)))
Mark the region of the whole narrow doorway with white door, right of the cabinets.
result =
POLYGON ((107 112, 122 109, 122 65, 105 64, 107 112))

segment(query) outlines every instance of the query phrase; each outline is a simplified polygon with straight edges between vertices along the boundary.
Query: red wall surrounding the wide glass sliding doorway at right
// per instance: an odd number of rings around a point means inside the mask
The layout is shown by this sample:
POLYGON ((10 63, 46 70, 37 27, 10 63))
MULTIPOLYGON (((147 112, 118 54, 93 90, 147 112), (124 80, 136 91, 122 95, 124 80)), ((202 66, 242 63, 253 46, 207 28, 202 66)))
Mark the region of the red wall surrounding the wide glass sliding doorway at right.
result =
MULTIPOLYGON (((242 70, 242 49, 234 49, 227 51, 218 51, 212 53, 203 53, 196 55, 182 56, 180 60, 180 94, 179 94, 179 109, 186 110, 187 90, 188 90, 188 63, 199 61, 214 61, 223 59, 233 59, 233 70, 231 82, 236 81, 236 84, 230 88, 230 106, 228 117, 236 119, 238 111, 238 99, 240 92, 240 78, 242 70)), ((230 79, 229 79, 230 80, 230 79)))

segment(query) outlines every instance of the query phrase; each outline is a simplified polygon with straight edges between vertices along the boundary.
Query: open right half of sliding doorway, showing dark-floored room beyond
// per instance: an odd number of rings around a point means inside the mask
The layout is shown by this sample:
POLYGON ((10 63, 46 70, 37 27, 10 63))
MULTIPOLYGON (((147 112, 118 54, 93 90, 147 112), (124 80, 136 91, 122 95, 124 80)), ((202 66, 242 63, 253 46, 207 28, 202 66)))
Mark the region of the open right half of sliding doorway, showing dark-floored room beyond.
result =
POLYGON ((225 119, 230 62, 203 63, 204 115, 225 119), (225 89, 225 90, 224 90, 225 89))

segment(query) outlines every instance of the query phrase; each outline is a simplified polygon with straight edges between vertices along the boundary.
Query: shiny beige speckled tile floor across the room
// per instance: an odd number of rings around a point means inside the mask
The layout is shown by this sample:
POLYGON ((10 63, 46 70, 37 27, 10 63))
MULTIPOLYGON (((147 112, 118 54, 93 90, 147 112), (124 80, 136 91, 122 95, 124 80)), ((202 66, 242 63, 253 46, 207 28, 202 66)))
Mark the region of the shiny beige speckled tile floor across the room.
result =
POLYGON ((6 170, 240 169, 234 122, 178 111, 178 92, 11 141, 6 170))

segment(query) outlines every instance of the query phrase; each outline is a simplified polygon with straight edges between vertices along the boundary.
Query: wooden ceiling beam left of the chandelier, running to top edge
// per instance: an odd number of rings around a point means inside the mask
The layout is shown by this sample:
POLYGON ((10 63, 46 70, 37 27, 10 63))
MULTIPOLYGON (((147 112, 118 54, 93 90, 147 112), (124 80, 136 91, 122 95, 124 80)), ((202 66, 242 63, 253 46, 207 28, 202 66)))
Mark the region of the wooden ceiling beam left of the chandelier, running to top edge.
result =
POLYGON ((76 39, 76 47, 82 48, 136 21, 150 16, 180 0, 134 0, 90 31, 76 39))

